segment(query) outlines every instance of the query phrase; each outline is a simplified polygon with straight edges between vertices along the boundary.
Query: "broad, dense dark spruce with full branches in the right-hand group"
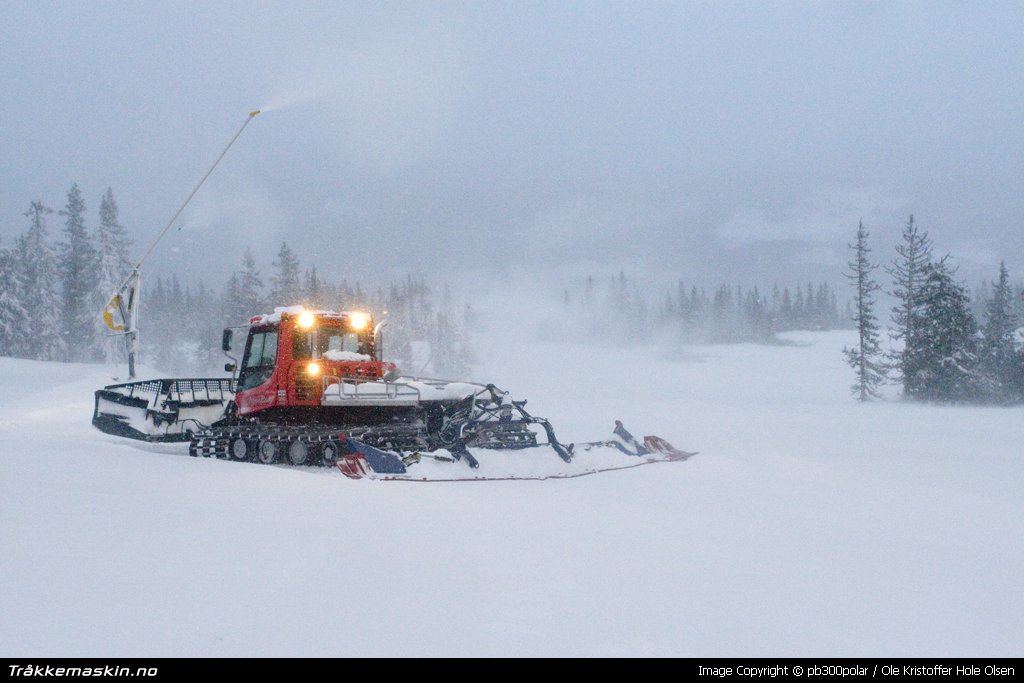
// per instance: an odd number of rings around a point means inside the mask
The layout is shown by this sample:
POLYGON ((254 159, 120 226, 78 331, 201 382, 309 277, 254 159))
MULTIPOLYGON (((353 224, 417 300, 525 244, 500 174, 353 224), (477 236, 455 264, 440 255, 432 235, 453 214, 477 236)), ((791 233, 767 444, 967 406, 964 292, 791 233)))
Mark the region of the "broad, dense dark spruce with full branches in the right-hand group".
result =
POLYGON ((971 298, 953 281, 945 258, 930 263, 921 274, 903 391, 910 398, 924 400, 977 401, 982 379, 971 298))

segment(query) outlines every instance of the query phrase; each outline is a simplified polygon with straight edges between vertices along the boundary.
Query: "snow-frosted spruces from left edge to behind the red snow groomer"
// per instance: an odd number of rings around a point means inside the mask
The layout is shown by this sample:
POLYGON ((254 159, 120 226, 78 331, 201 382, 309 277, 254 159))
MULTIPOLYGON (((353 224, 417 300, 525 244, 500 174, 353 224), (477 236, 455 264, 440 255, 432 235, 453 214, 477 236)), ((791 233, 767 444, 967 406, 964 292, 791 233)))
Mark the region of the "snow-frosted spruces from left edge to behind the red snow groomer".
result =
MULTIPOLYGON (((124 359, 123 337, 112 335, 100 314, 133 269, 132 240, 118 213, 108 189, 90 229, 77 184, 59 211, 42 201, 30 203, 25 232, 9 247, 0 244, 0 354, 66 362, 124 359), (54 217, 61 222, 57 237, 51 234, 54 217)), ((268 279, 248 249, 219 290, 176 275, 143 279, 139 359, 168 372, 211 372, 223 364, 224 327, 291 305, 365 309, 387 317, 387 359, 408 372, 461 377, 473 361, 473 311, 460 307, 446 287, 438 291, 412 276, 374 290, 334 282, 315 265, 303 269, 287 243, 268 279)))

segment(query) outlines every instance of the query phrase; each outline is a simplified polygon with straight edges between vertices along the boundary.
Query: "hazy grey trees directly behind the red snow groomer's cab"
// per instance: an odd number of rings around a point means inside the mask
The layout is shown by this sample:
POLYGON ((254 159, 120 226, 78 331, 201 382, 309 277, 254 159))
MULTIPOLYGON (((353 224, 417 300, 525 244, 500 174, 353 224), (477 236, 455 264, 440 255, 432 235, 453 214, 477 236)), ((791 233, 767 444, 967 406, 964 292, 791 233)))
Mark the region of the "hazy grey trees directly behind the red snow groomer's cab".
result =
POLYGON ((422 279, 365 289, 335 282, 315 265, 303 269, 298 255, 282 243, 265 278, 249 249, 218 293, 204 283, 182 285, 177 276, 158 278, 142 294, 141 345, 160 368, 177 373, 212 371, 223 365, 220 333, 279 306, 319 310, 365 310, 383 328, 384 355, 403 372, 465 377, 475 359, 469 330, 473 310, 447 287, 438 292, 422 279))

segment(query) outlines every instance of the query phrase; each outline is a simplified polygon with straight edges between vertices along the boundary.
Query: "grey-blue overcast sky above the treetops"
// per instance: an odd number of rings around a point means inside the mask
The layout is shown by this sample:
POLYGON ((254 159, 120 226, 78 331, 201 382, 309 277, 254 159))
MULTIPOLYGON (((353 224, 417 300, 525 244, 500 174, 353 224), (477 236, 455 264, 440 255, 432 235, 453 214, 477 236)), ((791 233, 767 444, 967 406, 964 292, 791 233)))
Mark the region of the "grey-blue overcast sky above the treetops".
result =
POLYGON ((3 0, 0 237, 110 185, 138 256, 263 108, 153 272, 838 280, 912 212, 1019 280, 1022 46, 1020 2, 3 0))

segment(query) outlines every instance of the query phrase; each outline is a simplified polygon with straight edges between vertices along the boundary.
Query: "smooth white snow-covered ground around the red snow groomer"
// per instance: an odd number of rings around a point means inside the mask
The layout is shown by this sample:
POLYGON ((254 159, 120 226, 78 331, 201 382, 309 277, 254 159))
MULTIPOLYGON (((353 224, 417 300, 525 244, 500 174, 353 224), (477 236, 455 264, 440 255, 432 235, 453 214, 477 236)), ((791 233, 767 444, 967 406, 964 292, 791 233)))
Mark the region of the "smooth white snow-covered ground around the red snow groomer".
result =
MULTIPOLYGON (((840 349, 478 339, 562 440, 700 455, 409 483, 94 430, 0 358, 0 656, 977 656, 1024 642, 1024 410, 861 405, 840 349)), ((552 458, 554 458, 552 454, 552 458)))

